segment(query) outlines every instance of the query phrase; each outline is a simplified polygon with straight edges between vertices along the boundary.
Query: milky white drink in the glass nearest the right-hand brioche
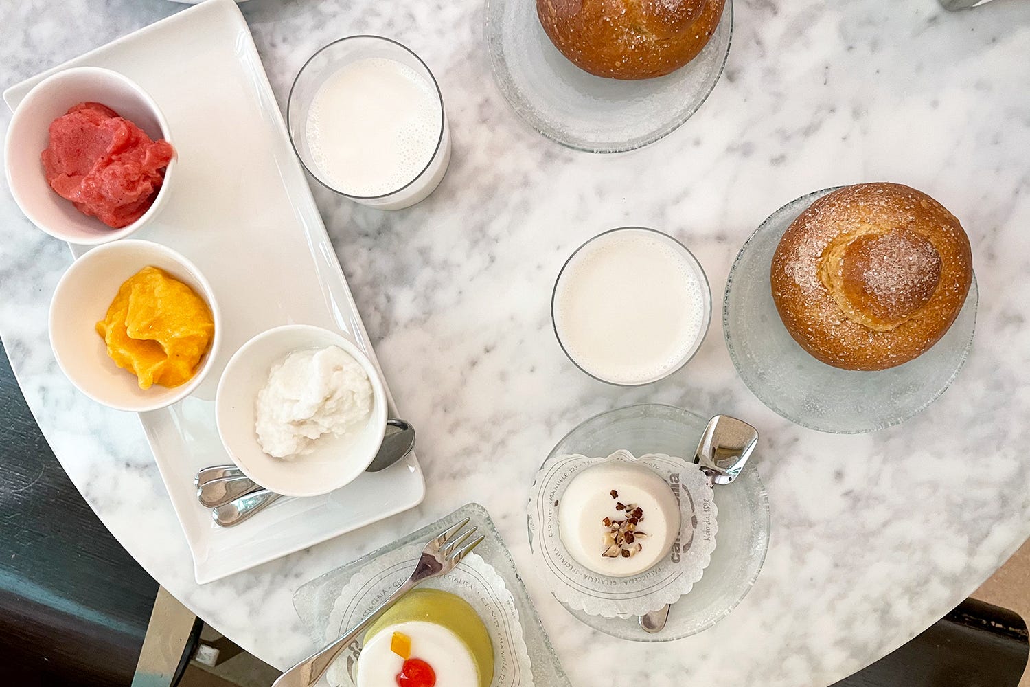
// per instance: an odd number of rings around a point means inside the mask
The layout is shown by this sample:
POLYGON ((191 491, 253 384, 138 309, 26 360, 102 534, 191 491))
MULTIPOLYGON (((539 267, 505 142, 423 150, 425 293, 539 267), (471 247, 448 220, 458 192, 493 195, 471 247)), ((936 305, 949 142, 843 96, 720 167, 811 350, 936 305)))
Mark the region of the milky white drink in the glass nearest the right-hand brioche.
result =
POLYGON ((700 345, 711 296, 672 238, 645 229, 602 234, 577 251, 554 291, 554 327, 569 356, 616 384, 644 384, 700 345))

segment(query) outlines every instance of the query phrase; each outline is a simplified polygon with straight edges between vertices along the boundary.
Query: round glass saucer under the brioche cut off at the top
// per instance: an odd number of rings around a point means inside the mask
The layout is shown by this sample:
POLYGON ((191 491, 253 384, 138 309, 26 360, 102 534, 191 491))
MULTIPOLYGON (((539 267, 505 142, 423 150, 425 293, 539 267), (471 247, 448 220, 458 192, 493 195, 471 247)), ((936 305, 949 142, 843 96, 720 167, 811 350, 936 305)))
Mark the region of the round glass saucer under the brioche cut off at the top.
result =
POLYGON ((634 81, 589 74, 544 33, 535 0, 486 0, 486 44, 501 93, 541 134, 577 150, 621 152, 653 143, 697 111, 729 55, 733 3, 712 39, 672 74, 634 81))

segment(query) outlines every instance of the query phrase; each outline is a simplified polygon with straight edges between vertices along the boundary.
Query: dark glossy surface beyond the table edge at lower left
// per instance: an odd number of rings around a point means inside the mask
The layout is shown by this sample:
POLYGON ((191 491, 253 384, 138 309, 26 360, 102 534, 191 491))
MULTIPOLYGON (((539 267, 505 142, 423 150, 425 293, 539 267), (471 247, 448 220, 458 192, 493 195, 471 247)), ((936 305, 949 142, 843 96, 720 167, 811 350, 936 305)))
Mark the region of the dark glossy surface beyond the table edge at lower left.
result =
POLYGON ((129 684, 158 584, 54 457, 2 345, 0 456, 0 684, 129 684))

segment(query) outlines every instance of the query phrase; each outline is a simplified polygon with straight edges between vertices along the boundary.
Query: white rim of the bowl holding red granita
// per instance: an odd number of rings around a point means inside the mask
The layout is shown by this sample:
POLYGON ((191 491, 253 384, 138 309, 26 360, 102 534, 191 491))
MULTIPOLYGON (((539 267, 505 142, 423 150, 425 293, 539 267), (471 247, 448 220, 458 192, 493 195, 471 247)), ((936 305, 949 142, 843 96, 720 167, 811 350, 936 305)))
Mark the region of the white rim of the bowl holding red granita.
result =
MULTIPOLYGON (((168 196, 167 190, 169 186, 170 178, 175 174, 176 163, 178 161, 178 148, 175 146, 172 140, 171 129, 168 126, 168 119, 165 117, 164 111, 158 106, 157 101, 147 93, 139 83, 129 78, 125 74, 113 69, 107 69, 105 67, 69 67, 67 69, 62 69, 61 71, 50 74, 43 80, 41 80, 36 85, 32 87, 32 90, 26 94, 22 102, 18 104, 11 114, 10 124, 7 126, 7 134, 4 138, 4 173, 7 178, 7 187, 10 190, 10 195, 14 199, 14 203, 18 205, 22 213, 28 217, 37 229, 53 236, 56 239, 61 239, 68 243, 73 243, 77 245, 102 245, 105 243, 110 243, 112 241, 117 241, 124 239, 130 234, 138 231, 141 227, 149 222, 158 214, 158 210, 164 204, 165 199, 168 196), (42 97, 47 90, 55 88, 55 84, 60 84, 61 81, 79 77, 89 74, 102 74, 105 77, 114 78, 122 81, 128 85, 143 102, 144 105, 150 110, 153 117, 158 121, 158 128, 161 130, 161 136, 164 140, 172 144, 173 154, 171 161, 169 161, 168 166, 165 168, 164 181, 162 181, 161 188, 158 190, 158 194, 153 197, 153 202, 150 203, 150 207, 146 209, 139 219, 122 227, 121 229, 112 229, 108 227, 109 231, 102 234, 98 234, 95 237, 81 237, 81 236, 71 236, 64 230, 55 229, 47 225, 38 217, 34 212, 32 203, 28 202, 28 199, 22 197, 19 192, 18 185, 14 183, 15 173, 11 168, 11 151, 14 146, 18 145, 15 142, 18 132, 23 125, 23 121, 26 117, 26 110, 28 106, 34 101, 42 97)), ((19 173, 30 173, 29 170, 21 170, 19 173)), ((69 201, 70 202, 70 201, 69 201)), ((82 217, 88 218, 90 221, 100 222, 99 219, 91 215, 82 214, 82 217)), ((103 225, 103 222, 100 222, 103 225)))

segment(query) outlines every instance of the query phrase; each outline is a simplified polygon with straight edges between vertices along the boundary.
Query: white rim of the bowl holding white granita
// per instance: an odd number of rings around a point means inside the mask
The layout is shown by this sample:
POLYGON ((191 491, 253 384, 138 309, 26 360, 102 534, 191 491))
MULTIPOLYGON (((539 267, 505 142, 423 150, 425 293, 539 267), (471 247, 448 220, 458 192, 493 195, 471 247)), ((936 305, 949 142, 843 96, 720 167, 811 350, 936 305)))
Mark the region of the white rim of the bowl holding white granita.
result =
MULTIPOLYGON (((369 422, 383 425, 380 435, 383 432, 385 432, 386 420, 388 419, 389 416, 389 408, 388 408, 389 404, 386 399, 386 388, 383 385, 382 377, 379 375, 379 371, 376 369, 376 366, 372 362, 372 358, 369 357, 360 348, 357 347, 357 344, 351 341, 342 332, 331 330, 324 327, 318 327, 317 324, 305 324, 305 323, 280 324, 278 327, 273 327, 271 329, 264 330, 263 332, 259 332, 254 336, 250 337, 250 339, 248 339, 242 346, 236 349, 233 355, 229 358, 229 362, 226 364, 221 377, 218 379, 218 388, 215 391, 215 397, 214 397, 215 425, 217 426, 218 430, 218 438, 221 440, 221 445, 226 449, 226 453, 229 454, 229 458, 233 461, 233 465, 239 468, 240 471, 244 475, 249 477, 251 480, 253 480, 261 486, 267 489, 271 489, 272 491, 275 491, 276 493, 279 493, 280 495, 283 496, 293 496, 293 497, 321 496, 332 491, 336 491, 337 489, 350 484, 358 477, 360 477, 365 473, 365 470, 370 465, 372 465, 372 461, 375 459, 376 454, 379 451, 379 444, 376 445, 375 450, 369 452, 368 459, 364 460, 364 465, 362 466, 360 470, 355 471, 353 475, 347 476, 346 479, 338 479, 336 481, 327 480, 323 483, 324 484, 323 486, 320 486, 317 489, 310 491, 298 490, 295 488, 282 489, 279 488, 281 485, 268 484, 267 480, 260 480, 252 474, 252 472, 247 468, 247 466, 244 465, 244 460, 241 460, 237 456, 236 451, 233 450, 232 442, 226 438, 227 432, 222 427, 222 421, 221 421, 222 412, 220 408, 224 399, 226 398, 222 391, 226 388, 226 380, 230 377, 229 373, 234 368, 242 365, 241 360, 245 360, 248 351, 252 350, 254 346, 256 346, 259 343, 266 341, 268 339, 281 337, 286 333, 294 333, 294 332, 304 332, 318 336, 329 335, 330 338, 334 340, 333 345, 342 348, 345 352, 347 352, 347 354, 353 357, 358 365, 362 366, 362 369, 365 370, 366 374, 369 377, 369 382, 372 384, 373 406, 372 406, 372 416, 369 418, 369 422)), ((296 347, 289 349, 283 348, 281 353, 282 355, 288 355, 295 350, 300 350, 300 349, 296 347)), ((256 444, 256 439, 254 439, 253 441, 256 444)))

